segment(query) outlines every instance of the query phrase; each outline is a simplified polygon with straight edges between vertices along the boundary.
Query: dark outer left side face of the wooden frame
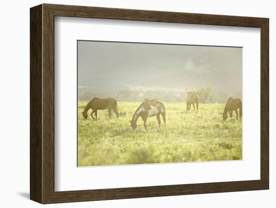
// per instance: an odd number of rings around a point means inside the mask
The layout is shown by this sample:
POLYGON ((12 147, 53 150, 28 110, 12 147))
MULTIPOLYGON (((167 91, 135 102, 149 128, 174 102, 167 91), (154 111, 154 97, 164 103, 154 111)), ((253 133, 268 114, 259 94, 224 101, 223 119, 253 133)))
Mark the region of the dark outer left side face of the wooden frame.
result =
POLYGON ((42 202, 42 5, 30 15, 30 198, 42 202))

